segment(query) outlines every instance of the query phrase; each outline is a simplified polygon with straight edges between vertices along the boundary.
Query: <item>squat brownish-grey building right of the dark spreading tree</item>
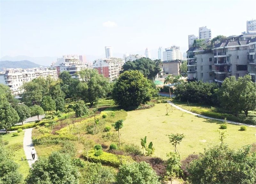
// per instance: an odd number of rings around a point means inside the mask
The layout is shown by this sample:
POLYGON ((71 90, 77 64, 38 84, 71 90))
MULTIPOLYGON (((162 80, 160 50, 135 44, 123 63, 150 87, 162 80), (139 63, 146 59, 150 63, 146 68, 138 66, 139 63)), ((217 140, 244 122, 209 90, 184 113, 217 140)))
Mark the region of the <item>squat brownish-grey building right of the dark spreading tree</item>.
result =
POLYGON ((174 76, 180 75, 180 66, 182 60, 163 61, 163 70, 165 74, 172 74, 174 76))

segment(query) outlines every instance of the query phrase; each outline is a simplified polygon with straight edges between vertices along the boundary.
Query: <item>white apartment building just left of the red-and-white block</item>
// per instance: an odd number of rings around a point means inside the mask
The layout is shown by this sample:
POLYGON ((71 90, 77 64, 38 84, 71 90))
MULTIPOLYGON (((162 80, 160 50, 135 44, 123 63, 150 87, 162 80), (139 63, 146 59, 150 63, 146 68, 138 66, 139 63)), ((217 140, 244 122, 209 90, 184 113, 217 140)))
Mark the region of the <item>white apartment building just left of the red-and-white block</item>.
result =
POLYGON ((60 72, 68 71, 72 78, 79 78, 79 75, 76 75, 76 72, 87 68, 87 65, 83 61, 80 61, 79 57, 78 59, 62 58, 61 61, 61 63, 59 63, 60 60, 58 61, 59 66, 56 67, 58 76, 60 72))

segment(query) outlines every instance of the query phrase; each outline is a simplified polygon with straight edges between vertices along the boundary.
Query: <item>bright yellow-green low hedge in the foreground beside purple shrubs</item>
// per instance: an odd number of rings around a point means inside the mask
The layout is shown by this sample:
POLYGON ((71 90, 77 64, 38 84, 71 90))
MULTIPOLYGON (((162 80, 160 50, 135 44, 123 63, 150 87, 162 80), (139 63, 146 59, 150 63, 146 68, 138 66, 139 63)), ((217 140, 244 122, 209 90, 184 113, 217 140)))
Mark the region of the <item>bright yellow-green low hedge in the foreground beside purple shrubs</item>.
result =
MULTIPOLYGON (((86 153, 83 153, 84 159, 87 160, 86 153)), ((104 165, 112 166, 118 168, 121 164, 125 164, 127 162, 134 162, 131 156, 124 156, 124 155, 115 155, 112 153, 104 152, 99 155, 95 156, 95 150, 89 151, 88 154, 89 161, 95 163, 101 163, 104 165)))

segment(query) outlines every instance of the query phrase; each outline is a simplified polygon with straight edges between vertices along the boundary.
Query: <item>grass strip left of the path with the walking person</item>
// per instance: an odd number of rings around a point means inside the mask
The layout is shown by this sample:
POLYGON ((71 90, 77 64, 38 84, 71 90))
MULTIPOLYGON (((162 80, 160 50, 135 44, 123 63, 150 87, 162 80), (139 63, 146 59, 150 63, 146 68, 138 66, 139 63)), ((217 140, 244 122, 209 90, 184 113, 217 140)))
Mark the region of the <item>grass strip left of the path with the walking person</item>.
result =
POLYGON ((13 160, 20 165, 19 171, 23 175, 23 179, 25 179, 28 175, 29 165, 23 149, 23 138, 24 132, 20 132, 16 137, 12 137, 12 133, 3 135, 3 140, 9 141, 6 147, 13 150, 13 160), (23 161, 21 161, 21 157, 23 157, 23 161))

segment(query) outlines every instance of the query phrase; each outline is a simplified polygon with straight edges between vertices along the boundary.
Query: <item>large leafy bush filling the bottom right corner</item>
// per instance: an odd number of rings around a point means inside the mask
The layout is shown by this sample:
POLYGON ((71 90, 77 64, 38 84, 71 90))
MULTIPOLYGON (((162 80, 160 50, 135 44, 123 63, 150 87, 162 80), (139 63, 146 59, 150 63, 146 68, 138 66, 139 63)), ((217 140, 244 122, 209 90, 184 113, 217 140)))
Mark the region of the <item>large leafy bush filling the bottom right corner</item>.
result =
POLYGON ((235 151, 227 145, 205 149, 188 169, 191 183, 256 183, 256 153, 251 146, 235 151))

